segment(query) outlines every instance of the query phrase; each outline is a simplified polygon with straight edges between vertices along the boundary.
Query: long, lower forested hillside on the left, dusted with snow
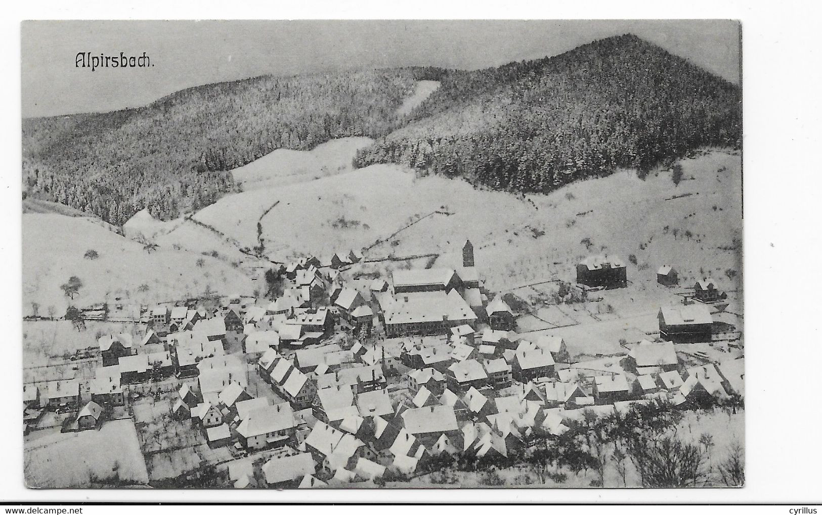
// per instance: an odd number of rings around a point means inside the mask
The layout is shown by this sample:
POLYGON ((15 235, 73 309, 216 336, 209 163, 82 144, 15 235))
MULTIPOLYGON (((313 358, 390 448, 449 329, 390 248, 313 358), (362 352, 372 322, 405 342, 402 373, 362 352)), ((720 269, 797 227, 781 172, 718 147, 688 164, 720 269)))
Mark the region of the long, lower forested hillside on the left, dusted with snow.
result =
POLYGON ((279 148, 386 136, 413 70, 263 76, 203 85, 142 108, 23 120, 23 186, 122 225, 175 218, 233 191, 228 170, 279 148))

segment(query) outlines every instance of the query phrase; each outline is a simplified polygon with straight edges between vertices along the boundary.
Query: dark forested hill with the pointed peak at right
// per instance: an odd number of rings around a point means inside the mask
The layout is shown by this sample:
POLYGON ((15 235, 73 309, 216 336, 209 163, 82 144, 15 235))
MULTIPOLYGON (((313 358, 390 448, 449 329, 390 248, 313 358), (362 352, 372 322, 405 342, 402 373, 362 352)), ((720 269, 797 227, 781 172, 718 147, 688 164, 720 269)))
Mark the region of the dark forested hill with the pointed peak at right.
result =
POLYGON ((355 165, 550 191, 703 145, 741 145, 740 88, 632 34, 437 80, 415 121, 362 149, 355 165))

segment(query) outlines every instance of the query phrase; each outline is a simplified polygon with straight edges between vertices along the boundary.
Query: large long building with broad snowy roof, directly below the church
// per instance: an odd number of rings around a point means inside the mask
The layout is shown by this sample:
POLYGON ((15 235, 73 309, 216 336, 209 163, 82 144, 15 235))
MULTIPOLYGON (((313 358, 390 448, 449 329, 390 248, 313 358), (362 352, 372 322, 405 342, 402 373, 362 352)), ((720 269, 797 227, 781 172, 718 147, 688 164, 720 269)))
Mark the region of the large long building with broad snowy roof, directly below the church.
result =
POLYGON ((396 338, 409 334, 444 334, 450 328, 473 324, 477 315, 456 289, 436 290, 425 294, 398 293, 381 306, 386 336, 396 338))

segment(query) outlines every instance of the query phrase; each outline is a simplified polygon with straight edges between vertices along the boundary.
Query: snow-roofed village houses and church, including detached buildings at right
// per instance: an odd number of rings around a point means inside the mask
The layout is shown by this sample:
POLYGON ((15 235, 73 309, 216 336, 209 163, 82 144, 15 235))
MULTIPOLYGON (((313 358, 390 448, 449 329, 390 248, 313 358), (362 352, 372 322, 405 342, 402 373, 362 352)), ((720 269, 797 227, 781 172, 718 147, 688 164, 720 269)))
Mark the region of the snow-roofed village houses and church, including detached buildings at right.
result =
MULTIPOLYGON (((643 341, 621 367, 593 370, 571 363, 556 335, 515 333, 510 306, 480 289, 470 241, 456 269, 347 278, 345 267, 362 260, 350 251, 330 268, 311 256, 281 264, 273 273, 282 294, 265 305, 229 296, 210 308, 155 306, 143 337, 99 338, 90 381, 27 385, 24 413, 66 407, 77 412, 76 430, 93 429, 127 402, 124 385, 174 376, 183 381, 173 416, 240 457, 226 471, 231 485, 318 487, 413 476, 442 453, 504 458, 533 435, 561 435, 585 409, 605 414, 655 398, 686 407, 744 393, 742 360, 686 366, 674 347, 710 341, 704 302, 723 298, 713 283, 697 283, 700 302, 659 310, 663 342, 643 341), (367 343, 378 326, 399 339, 399 352, 367 343), (343 331, 355 338, 334 338, 343 331)), ((589 257, 577 281, 625 287, 626 264, 589 257)), ((663 266, 658 281, 676 284, 676 270, 663 266)))

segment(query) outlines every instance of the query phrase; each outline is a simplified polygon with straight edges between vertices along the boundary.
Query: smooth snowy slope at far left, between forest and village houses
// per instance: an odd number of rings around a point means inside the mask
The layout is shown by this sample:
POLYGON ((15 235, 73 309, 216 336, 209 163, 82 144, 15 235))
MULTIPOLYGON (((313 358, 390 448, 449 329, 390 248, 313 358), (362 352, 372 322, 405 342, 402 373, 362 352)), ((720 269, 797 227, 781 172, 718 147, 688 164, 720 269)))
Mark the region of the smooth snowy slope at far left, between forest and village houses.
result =
POLYGON ((62 316, 69 305, 152 303, 205 291, 247 294, 252 280, 210 256, 143 245, 84 218, 59 214, 23 215, 23 314, 62 316), (86 259, 94 250, 99 257, 86 259), (58 256, 58 259, 55 259, 58 256), (199 260, 202 266, 198 266, 199 260), (70 299, 60 285, 77 276, 83 286, 70 299), (119 299, 119 300, 118 300, 119 299))

